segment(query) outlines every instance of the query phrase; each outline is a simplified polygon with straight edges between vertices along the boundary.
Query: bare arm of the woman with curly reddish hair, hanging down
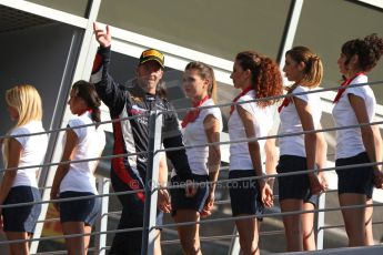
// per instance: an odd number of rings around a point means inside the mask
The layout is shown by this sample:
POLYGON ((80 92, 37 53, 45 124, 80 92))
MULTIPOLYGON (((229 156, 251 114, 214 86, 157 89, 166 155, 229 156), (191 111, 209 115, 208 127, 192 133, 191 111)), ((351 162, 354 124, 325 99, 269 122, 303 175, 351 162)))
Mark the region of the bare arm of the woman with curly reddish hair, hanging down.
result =
MULTIPOLYGON (((251 115, 242 106, 236 105, 238 113, 242 120, 244 132, 246 133, 248 139, 256 137, 256 133, 254 130, 253 124, 253 115, 251 115)), ((262 176, 262 162, 261 162, 261 152, 260 152, 260 144, 258 141, 249 141, 249 153, 253 164, 253 169, 255 170, 256 176, 262 176)), ((265 182, 264 178, 259 178, 258 183, 260 185, 260 191, 262 194, 262 202, 266 206, 272 206, 273 203, 273 192, 270 188, 269 184, 265 182)))

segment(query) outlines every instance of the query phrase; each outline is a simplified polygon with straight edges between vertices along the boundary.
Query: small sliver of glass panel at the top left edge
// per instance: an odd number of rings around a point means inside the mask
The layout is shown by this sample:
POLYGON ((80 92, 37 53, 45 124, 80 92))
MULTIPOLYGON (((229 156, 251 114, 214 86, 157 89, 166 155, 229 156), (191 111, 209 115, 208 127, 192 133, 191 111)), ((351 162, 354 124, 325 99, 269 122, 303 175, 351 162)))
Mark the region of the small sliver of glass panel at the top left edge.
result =
POLYGON ((44 7, 69 12, 75 16, 85 17, 88 0, 27 0, 44 7))

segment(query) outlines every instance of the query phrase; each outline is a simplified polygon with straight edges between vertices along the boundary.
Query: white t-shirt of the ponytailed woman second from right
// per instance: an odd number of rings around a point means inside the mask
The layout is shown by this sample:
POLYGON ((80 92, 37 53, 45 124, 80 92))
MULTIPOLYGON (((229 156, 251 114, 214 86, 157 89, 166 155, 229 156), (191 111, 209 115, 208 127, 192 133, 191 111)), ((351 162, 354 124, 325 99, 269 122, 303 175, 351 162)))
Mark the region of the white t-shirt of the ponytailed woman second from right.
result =
MULTIPOLYGON (((315 90, 315 89, 312 89, 315 90)), ((296 86, 294 93, 312 91, 305 86, 296 86)), ((311 110, 311 114, 314 122, 314 129, 318 129, 321 123, 322 106, 321 98, 319 93, 301 94, 294 95, 294 98, 305 101, 311 110)), ((288 106, 282 108, 281 114, 281 129, 280 134, 289 134, 303 132, 301 119, 298 114, 294 102, 290 102, 288 106)), ((304 147, 304 135, 293 135, 284 136, 279 139, 280 144, 280 155, 295 155, 295 156, 306 156, 306 151, 304 147)))

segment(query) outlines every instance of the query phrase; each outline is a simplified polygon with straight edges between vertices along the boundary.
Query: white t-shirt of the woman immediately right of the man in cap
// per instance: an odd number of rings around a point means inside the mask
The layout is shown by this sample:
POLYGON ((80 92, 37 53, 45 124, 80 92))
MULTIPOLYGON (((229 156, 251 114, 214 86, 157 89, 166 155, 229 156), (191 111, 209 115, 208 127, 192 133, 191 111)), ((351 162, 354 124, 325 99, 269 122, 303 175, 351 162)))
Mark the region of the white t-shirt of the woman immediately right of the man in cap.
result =
MULTIPOLYGON (((201 106, 214 105, 212 99, 206 100, 201 106)), ((202 109, 194 122, 190 122, 183 132, 183 142, 187 146, 206 144, 206 132, 204 130, 203 121, 208 115, 213 115, 220 122, 220 132, 222 131, 222 115, 219 108, 202 109)), ((206 166, 209 157, 209 146, 191 147, 187 150, 188 161, 193 174, 209 175, 206 166)), ((175 175, 174 170, 172 176, 175 175)))

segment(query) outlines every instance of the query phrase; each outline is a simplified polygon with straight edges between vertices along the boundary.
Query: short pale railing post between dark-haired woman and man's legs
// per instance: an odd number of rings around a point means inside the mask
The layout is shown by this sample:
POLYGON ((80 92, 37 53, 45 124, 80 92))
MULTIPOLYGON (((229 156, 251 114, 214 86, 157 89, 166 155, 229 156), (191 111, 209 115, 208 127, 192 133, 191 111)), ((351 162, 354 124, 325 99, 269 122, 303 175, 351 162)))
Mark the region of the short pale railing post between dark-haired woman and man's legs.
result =
MULTIPOLYGON (((99 177, 99 194, 109 194, 110 188, 110 180, 107 177, 99 177)), ((108 231, 108 207, 109 207, 109 196, 101 197, 101 215, 100 221, 95 226, 97 232, 107 232, 108 231)), ((98 237, 94 238, 94 248, 97 249, 97 254, 105 255, 107 251, 107 234, 100 234, 98 237)))

